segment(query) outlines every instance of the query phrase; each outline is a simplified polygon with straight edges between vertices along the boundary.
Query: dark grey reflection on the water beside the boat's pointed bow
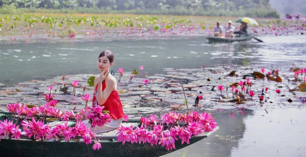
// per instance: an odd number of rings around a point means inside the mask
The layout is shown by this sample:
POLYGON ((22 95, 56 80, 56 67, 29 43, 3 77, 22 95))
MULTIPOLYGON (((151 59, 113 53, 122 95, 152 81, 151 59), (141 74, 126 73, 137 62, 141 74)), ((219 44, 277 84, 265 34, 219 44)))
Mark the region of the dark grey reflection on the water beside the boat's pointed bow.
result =
MULTIPOLYGON (((242 113, 238 108, 212 112, 220 129, 208 138, 188 146, 186 156, 230 156, 231 151, 238 146, 244 136, 246 129, 244 119, 254 115, 253 110, 244 110, 244 114, 242 113)), ((183 156, 185 149, 177 150, 163 157, 183 156)))

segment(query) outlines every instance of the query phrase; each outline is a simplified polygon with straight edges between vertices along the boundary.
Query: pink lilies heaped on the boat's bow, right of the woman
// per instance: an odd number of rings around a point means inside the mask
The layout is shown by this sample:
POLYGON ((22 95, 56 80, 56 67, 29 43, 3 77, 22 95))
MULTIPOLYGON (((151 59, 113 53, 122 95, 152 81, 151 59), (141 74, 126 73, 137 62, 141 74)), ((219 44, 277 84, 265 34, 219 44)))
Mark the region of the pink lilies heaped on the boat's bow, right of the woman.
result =
POLYGON ((215 119, 211 114, 198 113, 192 111, 190 114, 180 114, 170 111, 160 115, 161 119, 156 120, 156 115, 150 115, 150 118, 141 117, 141 126, 133 130, 133 126, 120 126, 117 130, 119 135, 118 142, 131 143, 150 143, 161 145, 167 150, 175 149, 175 140, 182 140, 182 144, 189 144, 192 135, 198 135, 205 131, 212 131, 216 128, 215 119), (178 122, 184 122, 182 126, 178 122))

